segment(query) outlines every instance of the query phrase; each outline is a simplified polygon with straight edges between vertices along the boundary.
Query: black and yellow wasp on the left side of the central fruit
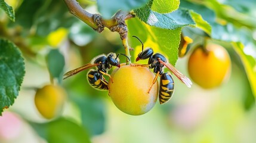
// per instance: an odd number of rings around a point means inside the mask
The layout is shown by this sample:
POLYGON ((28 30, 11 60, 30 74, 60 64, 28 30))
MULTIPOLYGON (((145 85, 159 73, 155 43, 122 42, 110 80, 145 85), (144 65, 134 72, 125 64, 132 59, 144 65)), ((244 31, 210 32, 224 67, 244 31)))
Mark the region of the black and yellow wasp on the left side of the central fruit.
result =
MULTIPOLYGON (((84 66, 78 67, 74 70, 67 71, 67 73, 64 74, 63 79, 67 79, 67 77, 73 76, 83 70, 96 67, 96 70, 91 69, 90 71, 88 71, 88 82, 95 89, 108 90, 108 82, 103 77, 103 75, 109 76, 110 80, 113 82, 110 74, 107 74, 107 71, 111 69, 112 66, 120 67, 120 61, 118 58, 119 55, 124 55, 125 57, 127 57, 127 55, 125 54, 118 54, 116 56, 116 54, 113 52, 110 52, 107 55, 98 55, 97 57, 93 58, 91 63, 85 64, 84 66)), ((130 59, 128 58, 128 60, 130 59)))

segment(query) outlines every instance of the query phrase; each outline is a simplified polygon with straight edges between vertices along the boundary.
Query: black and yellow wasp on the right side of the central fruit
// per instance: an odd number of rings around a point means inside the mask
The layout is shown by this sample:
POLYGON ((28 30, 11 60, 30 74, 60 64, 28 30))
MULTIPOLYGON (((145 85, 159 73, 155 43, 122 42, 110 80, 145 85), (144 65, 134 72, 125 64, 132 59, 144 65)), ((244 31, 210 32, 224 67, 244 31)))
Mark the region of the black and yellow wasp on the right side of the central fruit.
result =
MULTIPOLYGON (((132 36, 134 38, 137 38, 137 36, 132 36)), ((140 41, 139 38, 137 38, 138 41, 140 41)), ((141 41, 140 41, 141 42, 141 41)), ((153 69, 154 73, 156 73, 155 78, 153 79, 153 83, 150 86, 150 89, 148 92, 150 92, 152 86, 156 83, 156 80, 158 79, 158 76, 160 76, 160 85, 159 85, 159 102, 160 104, 163 104, 167 102, 174 93, 174 80, 172 79, 172 76, 169 72, 164 73, 163 68, 164 66, 167 67, 172 73, 174 73, 175 76, 178 77, 178 79, 181 80, 181 82, 185 83, 187 87, 191 87, 192 82, 191 80, 184 76, 180 71, 175 69, 172 64, 168 63, 164 55, 156 53, 153 54, 153 49, 150 47, 147 47, 143 50, 143 42, 141 42, 142 45, 142 51, 138 54, 138 57, 136 58, 136 61, 138 60, 146 60, 149 59, 147 64, 141 64, 141 65, 134 65, 134 66, 143 66, 143 67, 149 67, 150 69, 153 69)))

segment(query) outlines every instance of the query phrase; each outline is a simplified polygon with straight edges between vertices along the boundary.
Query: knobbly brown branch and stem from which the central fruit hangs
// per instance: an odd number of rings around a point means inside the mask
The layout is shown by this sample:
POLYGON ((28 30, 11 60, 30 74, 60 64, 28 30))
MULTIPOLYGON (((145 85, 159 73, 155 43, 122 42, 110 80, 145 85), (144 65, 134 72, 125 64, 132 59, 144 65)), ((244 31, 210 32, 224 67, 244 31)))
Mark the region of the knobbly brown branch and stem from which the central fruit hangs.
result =
MULTIPOLYGON (((129 54, 129 45, 128 45, 128 28, 127 24, 125 24, 125 20, 129 18, 135 17, 135 14, 128 11, 118 11, 112 18, 109 20, 103 19, 100 14, 91 14, 85 11, 76 0, 64 0, 69 8, 69 12, 82 21, 88 24, 88 26, 92 27, 92 29, 96 30, 97 32, 101 33, 104 30, 104 27, 107 27, 112 32, 118 32, 120 38, 122 39, 122 43, 125 48, 125 54, 127 57, 131 58, 129 54)), ((127 64, 130 61, 127 60, 127 64)))

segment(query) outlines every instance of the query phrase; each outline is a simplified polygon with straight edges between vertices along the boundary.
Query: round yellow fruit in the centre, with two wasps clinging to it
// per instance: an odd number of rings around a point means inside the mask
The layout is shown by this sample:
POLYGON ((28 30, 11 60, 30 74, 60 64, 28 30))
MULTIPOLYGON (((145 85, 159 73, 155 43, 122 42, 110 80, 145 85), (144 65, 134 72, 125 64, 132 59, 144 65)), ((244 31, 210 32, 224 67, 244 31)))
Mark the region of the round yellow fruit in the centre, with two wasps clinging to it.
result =
POLYGON ((140 115, 150 111, 158 99, 158 82, 150 92, 155 74, 147 67, 121 66, 111 74, 109 95, 119 110, 131 115, 140 115))

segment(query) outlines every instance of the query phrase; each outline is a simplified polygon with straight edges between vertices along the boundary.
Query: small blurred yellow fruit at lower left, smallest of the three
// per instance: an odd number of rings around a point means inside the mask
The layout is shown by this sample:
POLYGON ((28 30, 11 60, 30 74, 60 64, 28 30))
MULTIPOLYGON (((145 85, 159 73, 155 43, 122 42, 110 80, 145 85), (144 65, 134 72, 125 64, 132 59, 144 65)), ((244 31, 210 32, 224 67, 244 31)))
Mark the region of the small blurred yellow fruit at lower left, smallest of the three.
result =
POLYGON ((36 91, 35 105, 39 113, 46 119, 53 119, 60 115, 66 92, 60 86, 46 85, 36 91))

